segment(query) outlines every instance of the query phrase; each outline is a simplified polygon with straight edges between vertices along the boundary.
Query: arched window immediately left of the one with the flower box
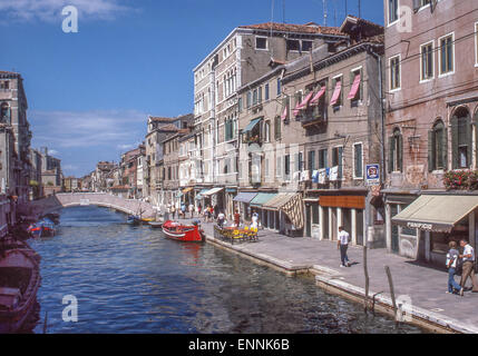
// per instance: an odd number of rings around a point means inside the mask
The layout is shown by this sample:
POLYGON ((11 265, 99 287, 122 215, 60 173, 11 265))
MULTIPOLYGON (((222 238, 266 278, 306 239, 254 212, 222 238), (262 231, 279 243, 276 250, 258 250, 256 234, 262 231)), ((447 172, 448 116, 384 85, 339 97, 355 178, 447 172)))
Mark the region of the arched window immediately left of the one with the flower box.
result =
POLYGON ((440 119, 428 131, 428 170, 447 169, 447 128, 440 119))

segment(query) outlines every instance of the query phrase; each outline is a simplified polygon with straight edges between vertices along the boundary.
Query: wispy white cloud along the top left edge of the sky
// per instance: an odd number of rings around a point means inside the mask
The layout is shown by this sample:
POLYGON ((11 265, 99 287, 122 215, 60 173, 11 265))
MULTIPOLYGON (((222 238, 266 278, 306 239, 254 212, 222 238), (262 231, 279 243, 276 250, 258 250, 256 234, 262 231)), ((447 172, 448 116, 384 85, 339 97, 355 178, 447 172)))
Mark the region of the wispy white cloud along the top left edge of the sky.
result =
POLYGON ((41 20, 46 22, 62 19, 61 10, 66 6, 78 9, 79 19, 111 20, 131 11, 133 8, 119 0, 0 0, 0 12, 7 19, 25 22, 41 20))

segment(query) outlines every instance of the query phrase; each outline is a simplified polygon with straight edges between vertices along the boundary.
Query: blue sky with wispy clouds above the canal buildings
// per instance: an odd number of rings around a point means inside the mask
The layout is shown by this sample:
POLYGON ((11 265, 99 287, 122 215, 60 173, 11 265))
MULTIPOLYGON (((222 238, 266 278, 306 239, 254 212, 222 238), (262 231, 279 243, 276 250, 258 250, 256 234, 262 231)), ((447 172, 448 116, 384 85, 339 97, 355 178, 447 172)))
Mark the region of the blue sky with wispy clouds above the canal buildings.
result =
MULTIPOLYGON (((322 3, 284 0, 285 22, 323 24, 322 3)), ((326 3, 328 26, 340 26, 345 0, 326 3)), ((358 16, 358 0, 347 3, 358 16)), ((383 23, 382 8, 362 0, 361 14, 383 23)), ((0 69, 25 79, 32 146, 82 176, 144 140, 147 115, 191 112, 193 68, 235 27, 271 21, 272 0, 0 0, 0 69), (78 33, 61 30, 68 4, 78 33)))

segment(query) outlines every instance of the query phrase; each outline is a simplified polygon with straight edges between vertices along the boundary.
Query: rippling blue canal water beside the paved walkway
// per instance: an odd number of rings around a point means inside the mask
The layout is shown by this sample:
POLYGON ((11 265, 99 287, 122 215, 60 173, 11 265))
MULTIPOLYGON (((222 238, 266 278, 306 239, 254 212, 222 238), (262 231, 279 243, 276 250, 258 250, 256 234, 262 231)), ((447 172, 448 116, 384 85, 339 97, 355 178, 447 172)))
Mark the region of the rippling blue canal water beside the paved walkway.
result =
POLYGON ((107 208, 67 208, 60 221, 57 236, 29 241, 42 258, 33 333, 421 333, 365 316, 312 278, 167 240, 107 208), (68 295, 76 323, 62 319, 68 295))

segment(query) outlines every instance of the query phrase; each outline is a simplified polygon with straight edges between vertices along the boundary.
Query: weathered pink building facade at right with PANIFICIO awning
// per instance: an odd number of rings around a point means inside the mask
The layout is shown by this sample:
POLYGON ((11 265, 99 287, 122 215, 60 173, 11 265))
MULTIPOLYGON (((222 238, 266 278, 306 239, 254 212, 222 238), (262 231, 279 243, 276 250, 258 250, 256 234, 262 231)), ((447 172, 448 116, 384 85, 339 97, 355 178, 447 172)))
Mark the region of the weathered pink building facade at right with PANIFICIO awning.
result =
POLYGON ((476 246, 478 3, 400 6, 384 1, 387 248, 441 264, 448 241, 476 246))

